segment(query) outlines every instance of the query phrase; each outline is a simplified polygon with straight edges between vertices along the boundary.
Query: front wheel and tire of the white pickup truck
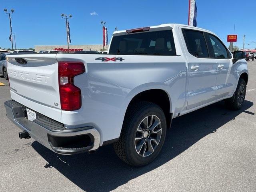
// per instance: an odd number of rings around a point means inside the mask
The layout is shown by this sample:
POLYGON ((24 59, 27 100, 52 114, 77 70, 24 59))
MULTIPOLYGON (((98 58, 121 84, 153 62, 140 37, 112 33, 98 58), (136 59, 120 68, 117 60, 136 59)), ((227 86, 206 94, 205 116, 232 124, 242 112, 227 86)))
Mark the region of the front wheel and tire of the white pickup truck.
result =
POLYGON ((232 98, 225 100, 226 106, 232 110, 239 110, 244 104, 245 95, 246 82, 244 81, 244 79, 240 78, 236 87, 236 91, 234 92, 232 98))

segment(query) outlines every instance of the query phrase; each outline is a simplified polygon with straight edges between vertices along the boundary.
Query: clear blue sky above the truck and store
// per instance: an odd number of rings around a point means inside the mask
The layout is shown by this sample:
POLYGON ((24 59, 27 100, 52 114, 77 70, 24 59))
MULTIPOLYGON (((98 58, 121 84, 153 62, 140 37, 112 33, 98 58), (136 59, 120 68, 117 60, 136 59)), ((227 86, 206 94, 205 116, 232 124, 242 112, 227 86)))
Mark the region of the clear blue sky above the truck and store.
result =
MULTIPOLYGON (((241 0, 196 0, 198 27, 215 32, 226 43, 227 34, 238 34, 234 45, 256 48, 255 1, 253 6, 241 0), (252 23, 251 25, 249 25, 252 23), (248 45, 250 44, 250 45, 248 45)), ((17 48, 34 45, 66 44, 65 21, 61 14, 72 14, 70 33, 73 45, 102 44, 102 26, 108 32, 153 26, 164 23, 188 22, 188 0, 0 0, 0 47, 10 48, 8 15, 14 9, 12 29, 17 48), (96 12, 96 14, 90 14, 96 12)), ((110 39, 111 36, 109 36, 110 39)))

